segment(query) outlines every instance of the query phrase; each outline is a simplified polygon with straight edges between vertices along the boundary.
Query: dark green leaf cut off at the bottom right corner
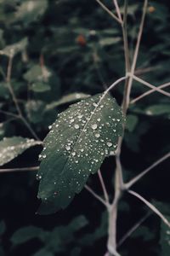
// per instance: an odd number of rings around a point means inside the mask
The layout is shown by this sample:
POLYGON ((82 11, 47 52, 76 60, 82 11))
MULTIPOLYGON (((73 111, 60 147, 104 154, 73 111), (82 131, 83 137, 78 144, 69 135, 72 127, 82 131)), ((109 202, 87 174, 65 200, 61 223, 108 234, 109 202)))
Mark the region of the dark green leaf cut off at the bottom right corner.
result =
MULTIPOLYGON (((165 216, 170 222, 170 216, 165 216)), ((170 229, 161 221, 161 255, 169 256, 170 255, 170 229)))

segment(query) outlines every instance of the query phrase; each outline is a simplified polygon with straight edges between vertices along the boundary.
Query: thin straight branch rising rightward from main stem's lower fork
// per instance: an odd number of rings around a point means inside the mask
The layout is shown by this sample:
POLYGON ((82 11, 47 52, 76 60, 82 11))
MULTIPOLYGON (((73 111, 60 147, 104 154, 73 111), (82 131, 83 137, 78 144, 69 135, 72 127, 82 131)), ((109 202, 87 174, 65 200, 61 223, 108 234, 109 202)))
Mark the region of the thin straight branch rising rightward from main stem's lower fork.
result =
POLYGON ((144 177, 145 174, 150 172, 150 170, 152 170, 156 166, 160 165, 162 161, 167 160, 167 158, 169 157, 170 157, 170 152, 162 156, 159 160, 156 160, 156 162, 154 162, 150 167, 146 168, 143 172, 139 173, 139 175, 137 175, 136 177, 133 177, 131 181, 124 184, 125 188, 129 189, 130 187, 132 187, 133 184, 138 182, 141 177, 144 177))

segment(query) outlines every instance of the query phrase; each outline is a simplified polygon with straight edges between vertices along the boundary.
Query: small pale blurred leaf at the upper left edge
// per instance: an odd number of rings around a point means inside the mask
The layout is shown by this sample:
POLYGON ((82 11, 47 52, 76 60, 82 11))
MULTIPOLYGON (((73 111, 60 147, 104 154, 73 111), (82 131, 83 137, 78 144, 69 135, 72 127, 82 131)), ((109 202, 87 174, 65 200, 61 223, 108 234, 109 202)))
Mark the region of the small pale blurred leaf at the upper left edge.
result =
POLYGON ((14 55, 16 55, 19 52, 22 52, 24 49, 26 49, 27 44, 28 44, 28 39, 23 38, 22 40, 20 40, 20 42, 18 42, 16 44, 8 45, 4 49, 1 49, 0 55, 6 55, 8 57, 10 57, 10 56, 13 57, 14 55))

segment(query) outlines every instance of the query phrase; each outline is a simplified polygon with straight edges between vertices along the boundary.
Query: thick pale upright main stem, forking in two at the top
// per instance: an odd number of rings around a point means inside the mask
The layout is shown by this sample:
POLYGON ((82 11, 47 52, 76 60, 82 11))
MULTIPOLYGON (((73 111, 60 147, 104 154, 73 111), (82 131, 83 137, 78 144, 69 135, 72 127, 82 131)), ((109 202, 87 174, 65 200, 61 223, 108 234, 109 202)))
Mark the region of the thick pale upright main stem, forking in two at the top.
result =
MULTIPOLYGON (((136 62, 139 54, 139 44, 142 37, 142 32, 144 28, 144 18, 146 14, 146 8, 147 8, 147 0, 144 0, 144 10, 142 19, 139 26, 139 34, 137 38, 137 44, 134 50, 133 55, 133 63, 132 67, 130 68, 130 60, 129 60, 129 51, 128 51, 128 42, 127 42, 127 1, 125 2, 125 15, 124 15, 124 24, 122 26, 122 35, 123 35, 123 41, 124 41, 124 51, 125 51, 125 62, 126 62, 126 77, 129 76, 129 79, 127 79, 125 84, 125 91, 124 96, 122 100, 122 111, 124 116, 126 116, 127 108, 129 106, 130 101, 130 92, 133 84, 133 74, 136 67, 136 62), (126 31, 125 31, 126 30, 126 31), (130 70, 130 74, 128 73, 128 70, 130 70)), ((123 131, 125 129, 125 125, 123 125, 123 131)), ((111 214, 109 216, 109 238, 108 238, 108 252, 111 255, 119 255, 116 252, 116 216, 117 216, 117 205, 122 195, 122 190, 124 189, 123 179, 122 179, 122 166, 120 161, 120 154, 121 154, 121 148, 122 148, 122 137, 119 138, 118 146, 117 146, 117 152, 116 152, 116 178, 115 178, 115 198, 111 205, 111 214)))

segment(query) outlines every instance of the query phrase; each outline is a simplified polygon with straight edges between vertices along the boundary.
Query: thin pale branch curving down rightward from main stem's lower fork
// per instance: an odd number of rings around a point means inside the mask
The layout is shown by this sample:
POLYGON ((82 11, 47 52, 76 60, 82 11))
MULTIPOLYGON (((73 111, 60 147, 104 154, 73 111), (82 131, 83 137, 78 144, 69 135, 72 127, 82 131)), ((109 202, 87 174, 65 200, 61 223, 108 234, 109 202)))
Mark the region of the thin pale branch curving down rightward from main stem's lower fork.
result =
POLYGON ((137 197, 140 201, 143 201, 144 204, 150 208, 150 210, 152 210, 153 212, 155 212, 160 218, 161 220, 167 224, 167 226, 170 228, 170 223, 168 222, 167 218, 165 218, 163 216, 163 214, 161 214, 161 212, 156 208, 154 207, 152 204, 150 204, 149 201, 145 200, 143 196, 139 195, 138 193, 134 192, 133 190, 127 190, 127 192, 131 195, 134 195, 135 197, 137 197))

